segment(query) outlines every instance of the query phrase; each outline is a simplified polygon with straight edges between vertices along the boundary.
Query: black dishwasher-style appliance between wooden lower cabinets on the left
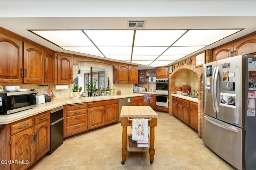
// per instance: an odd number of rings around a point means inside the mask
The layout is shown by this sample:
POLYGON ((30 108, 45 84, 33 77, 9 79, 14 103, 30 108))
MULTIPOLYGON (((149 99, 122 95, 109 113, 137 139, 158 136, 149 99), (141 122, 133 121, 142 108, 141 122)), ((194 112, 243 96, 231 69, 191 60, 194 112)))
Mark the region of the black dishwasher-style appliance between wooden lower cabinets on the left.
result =
POLYGON ((51 149, 48 155, 63 143, 63 106, 51 109, 50 113, 51 149))

